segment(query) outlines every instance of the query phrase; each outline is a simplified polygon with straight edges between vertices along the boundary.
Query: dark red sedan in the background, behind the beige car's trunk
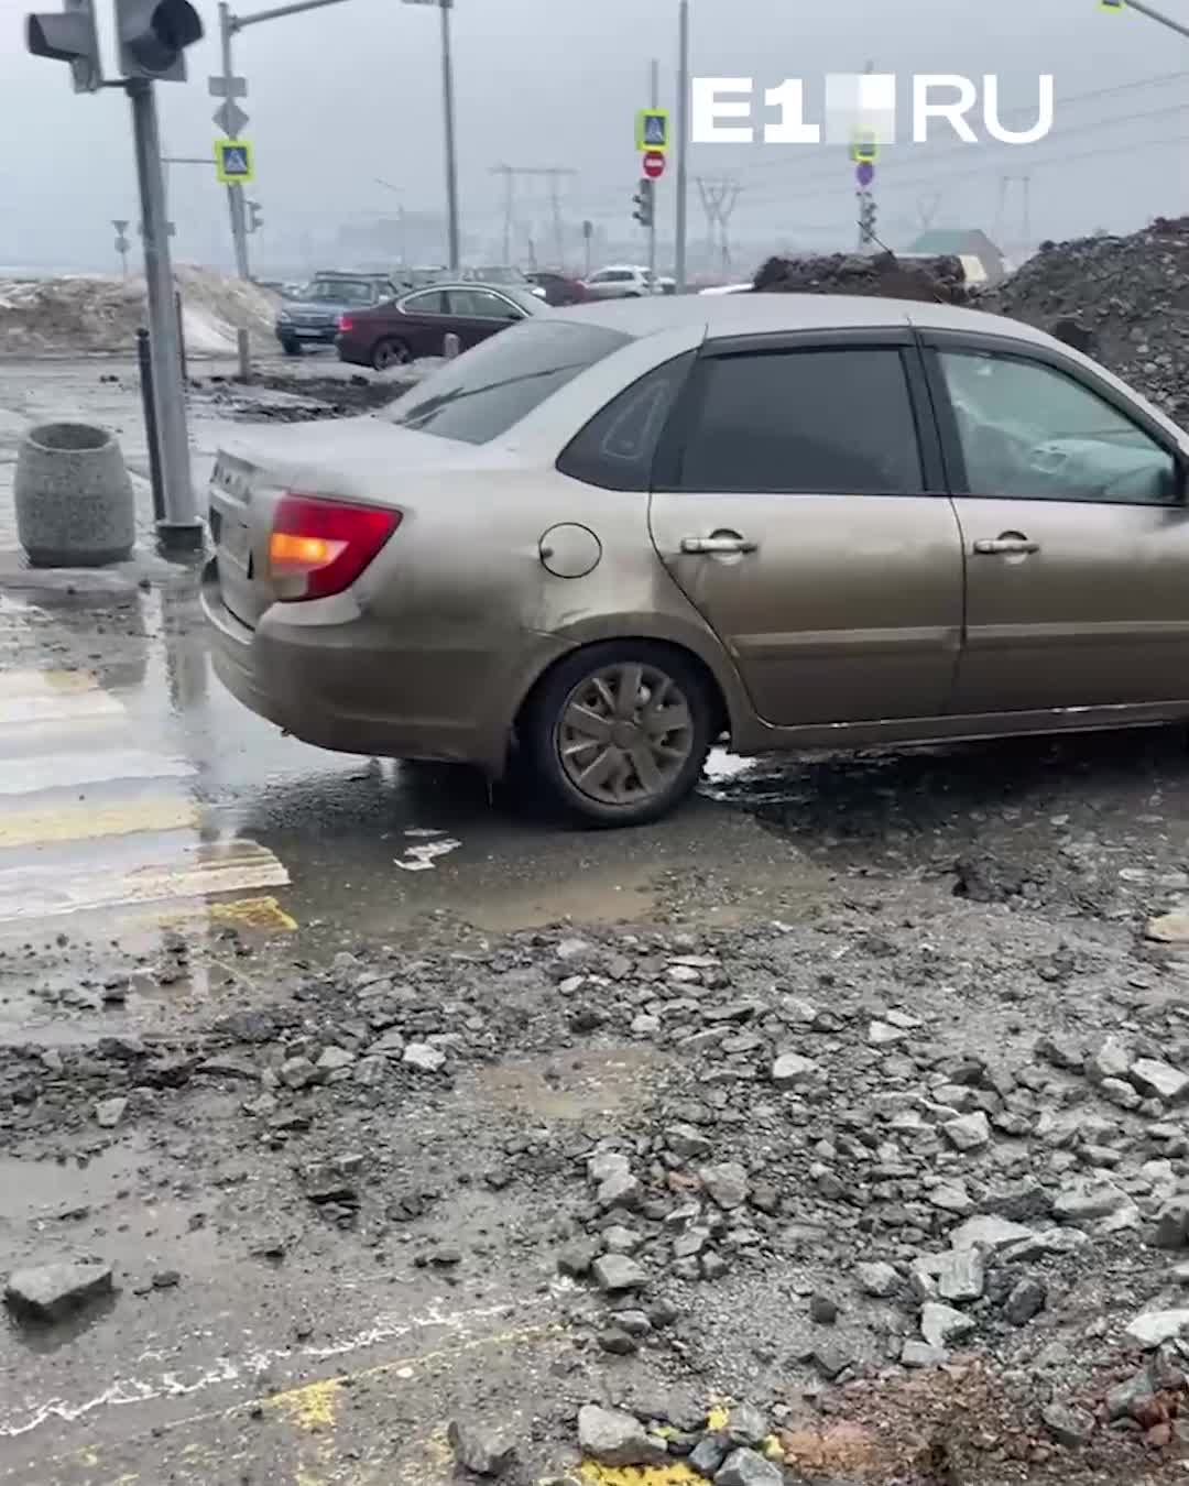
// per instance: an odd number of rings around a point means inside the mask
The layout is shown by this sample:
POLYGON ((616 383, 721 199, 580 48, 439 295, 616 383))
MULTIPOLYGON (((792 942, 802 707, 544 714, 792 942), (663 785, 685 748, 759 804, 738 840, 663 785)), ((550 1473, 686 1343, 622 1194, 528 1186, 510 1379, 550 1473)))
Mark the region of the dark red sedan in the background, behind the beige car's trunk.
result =
POLYGON ((449 334, 467 351, 547 308, 537 294, 504 284, 435 284, 391 305, 348 311, 339 318, 336 345, 342 361, 383 372, 418 357, 444 355, 449 334))

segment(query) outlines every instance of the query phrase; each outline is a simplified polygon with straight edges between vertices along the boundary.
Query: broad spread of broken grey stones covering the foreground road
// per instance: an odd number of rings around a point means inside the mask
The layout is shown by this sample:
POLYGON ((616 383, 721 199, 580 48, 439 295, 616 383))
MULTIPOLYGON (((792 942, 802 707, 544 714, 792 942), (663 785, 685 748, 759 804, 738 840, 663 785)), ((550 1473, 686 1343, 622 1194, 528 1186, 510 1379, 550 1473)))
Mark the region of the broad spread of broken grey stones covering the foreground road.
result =
MULTIPOLYGON (((969 973, 968 985, 978 984, 985 967, 969 970, 963 947, 930 975, 923 966, 942 951, 910 964, 901 939, 910 996, 899 978, 889 984, 890 923, 878 932, 865 917, 861 924, 849 930, 849 953, 823 961, 814 954, 826 930, 814 921, 779 969, 771 939, 762 950, 749 951, 743 939, 737 955, 706 955, 709 935, 684 930, 608 932, 608 942, 592 936, 562 957, 556 930, 541 930, 513 941, 514 950, 435 961, 424 984, 419 961, 394 969, 361 950, 349 964, 311 972, 291 1005, 221 1018, 201 1043, 110 1037, 88 1052, 0 1049, 7 1100, 0 1114, 28 1140, 34 1114, 48 1110, 55 1134, 73 1129, 80 1141, 89 1134, 95 1150, 107 1144, 95 1140, 103 1110, 119 1110, 119 1123, 134 1109, 138 1131, 152 1138, 162 1103, 198 1098, 190 1080, 201 1073, 195 1083, 230 1112, 227 1122, 244 1122, 244 1149, 259 1143, 279 1159, 308 1199, 269 1251, 275 1262, 300 1253, 306 1224, 320 1242, 333 1241, 334 1227, 352 1227, 378 1254, 392 1254, 394 1239, 410 1244, 409 1262, 437 1287, 482 1291, 505 1229, 513 1254, 540 1244, 541 1263, 528 1272, 541 1282, 542 1271, 556 1271, 551 1285, 541 1284, 544 1303, 574 1331, 581 1364, 603 1375, 584 1437, 624 1462, 603 1456, 606 1470, 690 1462, 707 1480, 724 1471, 779 1479, 765 1458, 762 1410, 737 1404, 707 1424, 704 1410, 690 1418, 685 1409, 688 1422, 678 1424, 661 1400, 645 1409, 635 1398, 636 1378, 655 1378, 658 1367, 687 1378, 685 1361, 704 1363, 706 1337, 739 1324, 748 1308, 754 1340, 749 1333, 731 1354, 734 1380, 758 1383, 761 1400, 777 1397, 759 1388, 774 1386, 770 1373, 779 1369, 801 1392, 795 1409, 826 1418, 846 1412, 853 1389, 904 1386, 902 1370, 947 1367, 962 1351, 963 1367, 973 1357, 1018 1373, 1027 1386, 1015 1392, 1031 1389, 1028 1427, 1043 1425, 1043 1449, 1072 1447, 1064 1441, 1094 1433, 1078 1409, 1106 1418, 1103 1392, 1122 1370, 1109 1370, 1112 1357, 1125 1348, 1164 1357, 1189 1342, 1189 1312, 1161 1309, 1185 1294, 1179 1287, 1189 1276, 1158 1253, 1189 1251, 1189 1190, 1182 1190, 1189 1025, 1174 976, 1133 958, 1125 991, 1115 976, 1107 997, 1097 990, 1107 976, 1092 960, 1089 988, 1075 1002, 1064 990, 1070 966, 1082 961, 1046 948, 1018 984, 1030 999, 1037 985, 1063 988, 1052 1003, 1055 1025, 1046 1028, 1043 1016, 1028 1024, 1031 1000, 1028 1016, 1017 1016, 1023 991, 1012 996, 1017 981, 1003 976, 1002 1006, 993 1008, 1015 1030, 994 1045, 979 1033, 971 1046, 965 1003, 948 982, 969 973), (864 955, 871 966, 858 972, 864 955), (476 970, 482 957, 511 978, 502 1002, 476 970), (944 991, 933 984, 942 973, 944 991), (528 1021, 519 1012, 501 1016, 538 982, 544 1006, 534 1003, 528 1021), (789 993, 817 984, 828 987, 817 1003, 789 993), (1095 996, 1104 1019, 1088 1009, 1095 996), (572 1030, 578 997, 597 1008, 592 1040, 572 1030), (517 1064, 534 1060, 553 1101, 584 1098, 590 1068, 608 1057, 618 1067, 626 1048, 645 1070, 633 1071, 641 1098, 630 1119, 615 1117, 614 1100, 600 1103, 597 1116, 587 1106, 581 1119, 554 1117, 528 1098, 502 1103, 499 1083, 498 1106, 471 1107, 471 1085, 477 1100, 489 1100, 483 1082, 505 1052, 517 1064), (435 1141, 443 1110, 459 1103, 449 1094, 455 1070, 468 1089, 462 1106, 474 1161, 458 1159, 446 1174, 435 1153, 430 1169, 410 1169, 380 1131, 410 1113, 431 1116, 421 1128, 435 1141), (499 1208, 498 1224, 487 1224, 486 1213, 473 1229, 441 1221, 453 1221, 468 1189, 499 1208), (447 1232, 467 1232, 465 1244, 443 1247, 447 1232), (1107 1274, 1110 1294, 1127 1306, 1121 1320, 1134 1321, 1124 1333, 1113 1320, 1118 1302, 1095 1312, 1091 1299, 1094 1314, 1072 1326, 1085 1276, 1106 1282, 1107 1274), (765 1293, 771 1303, 758 1305, 765 1293), (785 1308, 797 1333, 792 1349, 777 1328, 785 1308), (1106 1379, 1092 1409, 1089 1392, 1078 1391, 1083 1358, 1106 1379)), ((724 942, 737 933, 724 930, 724 942)), ((1119 936, 1131 953, 1134 918, 1119 936)), ((528 1088, 537 1073, 517 1068, 516 1080, 528 1088)), ((169 1138, 181 1183, 193 1137, 169 1138)), ((269 1230, 272 1221, 257 1213, 253 1226, 269 1230)), ((138 1281, 137 1293, 162 1282, 138 1281)), ((1128 1392, 1118 1418, 1153 1449, 1153 1431, 1171 1427, 1176 1412, 1167 1401, 1146 1403, 1170 1388, 1143 1388, 1128 1392)), ((794 1404, 773 1413, 780 1435, 794 1404)), ((452 1431, 459 1468, 476 1476, 496 1468, 517 1476, 520 1464, 499 1464, 510 1440, 468 1430, 467 1419, 452 1431)), ((516 1443, 528 1468, 528 1440, 516 1443)))

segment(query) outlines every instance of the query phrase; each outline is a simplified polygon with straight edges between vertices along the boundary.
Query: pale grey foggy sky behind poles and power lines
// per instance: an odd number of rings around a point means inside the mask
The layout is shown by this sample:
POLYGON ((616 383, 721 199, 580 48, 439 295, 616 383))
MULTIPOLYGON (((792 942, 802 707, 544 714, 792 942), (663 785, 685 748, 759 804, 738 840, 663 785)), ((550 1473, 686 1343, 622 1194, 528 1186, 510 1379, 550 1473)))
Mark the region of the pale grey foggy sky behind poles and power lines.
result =
MULTIPOLYGON (((233 9, 270 3, 236 0, 233 9)), ((1186 0, 1164 4, 1189 18, 1186 0)), ((138 217, 128 104, 117 92, 76 95, 65 65, 25 55, 25 0, 0 0, 0 265, 110 270, 108 218, 138 217)), ((165 147, 175 155, 208 156, 217 132, 207 92, 218 64, 216 4, 199 0, 199 10, 207 36, 189 52, 189 82, 158 89, 165 147)), ((1134 12, 1106 15, 1097 0, 691 0, 691 13, 696 74, 752 76, 758 94, 804 77, 816 117, 820 79, 862 71, 868 61, 901 77, 996 71, 1003 107, 1028 111, 1037 73, 1054 73, 1057 122, 1040 144, 942 138, 884 150, 877 199, 889 241, 911 236, 930 205, 935 226, 997 227, 1000 238, 1018 239, 1023 193, 1005 189, 1002 177, 1026 172, 1036 241, 1100 226, 1127 230, 1189 210, 1189 40, 1134 12), (1079 94, 1100 95, 1079 103, 1079 94)), ((648 103, 651 56, 661 61, 661 103, 673 104, 676 0, 456 0, 453 39, 464 229, 498 233, 501 187, 490 166, 507 162, 574 168, 568 215, 627 233, 638 177, 633 110, 648 103)), ((250 195, 266 218, 254 239, 262 260, 284 259, 302 233, 391 214, 400 204, 441 210, 438 58, 437 10, 401 0, 345 0, 236 37, 236 71, 250 86, 245 134, 256 149, 250 195)), ((755 122, 764 117, 758 101, 755 122)), ((742 186, 736 239, 853 242, 843 150, 693 147, 691 177, 722 172, 742 186)), ((544 187, 535 204, 529 192, 525 214, 544 218, 544 187)), ((180 259, 229 260, 213 169, 175 166, 169 207, 180 259)), ((670 169, 658 196, 664 235, 672 212, 670 169)), ((704 235, 693 181, 690 230, 704 235)))

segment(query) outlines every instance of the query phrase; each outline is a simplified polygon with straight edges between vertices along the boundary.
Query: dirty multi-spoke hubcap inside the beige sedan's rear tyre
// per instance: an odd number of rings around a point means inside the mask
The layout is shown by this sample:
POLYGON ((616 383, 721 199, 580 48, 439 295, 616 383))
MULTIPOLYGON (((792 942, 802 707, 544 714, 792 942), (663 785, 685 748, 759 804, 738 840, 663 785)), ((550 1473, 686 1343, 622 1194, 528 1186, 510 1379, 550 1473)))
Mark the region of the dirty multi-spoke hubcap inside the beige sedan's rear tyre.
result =
POLYGON ((605 805, 663 794, 694 746, 690 703, 672 676, 642 661, 606 666, 566 697, 557 758, 575 789, 605 805))

